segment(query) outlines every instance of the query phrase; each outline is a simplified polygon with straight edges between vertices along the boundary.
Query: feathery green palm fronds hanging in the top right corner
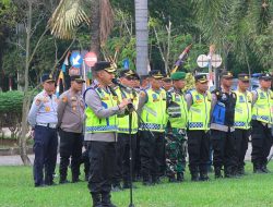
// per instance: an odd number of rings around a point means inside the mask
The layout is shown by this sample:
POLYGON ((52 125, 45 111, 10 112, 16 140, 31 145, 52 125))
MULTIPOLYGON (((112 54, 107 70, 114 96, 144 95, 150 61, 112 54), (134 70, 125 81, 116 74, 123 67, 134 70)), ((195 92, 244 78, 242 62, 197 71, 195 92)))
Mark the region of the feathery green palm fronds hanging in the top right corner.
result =
MULTIPOLYGON (((254 53, 264 68, 273 68, 273 7, 271 0, 192 0, 204 37, 236 54, 250 70, 254 53), (268 58, 264 58, 268 57, 268 58)), ((226 58, 224 57, 224 58, 226 58)))

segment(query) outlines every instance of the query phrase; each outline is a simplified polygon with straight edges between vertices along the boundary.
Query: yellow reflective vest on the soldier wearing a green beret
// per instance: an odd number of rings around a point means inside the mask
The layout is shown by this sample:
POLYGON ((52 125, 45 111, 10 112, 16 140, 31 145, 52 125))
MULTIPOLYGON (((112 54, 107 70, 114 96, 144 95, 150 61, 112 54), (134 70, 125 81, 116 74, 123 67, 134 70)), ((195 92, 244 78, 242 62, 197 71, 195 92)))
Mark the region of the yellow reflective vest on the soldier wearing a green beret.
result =
POLYGON ((175 90, 168 92, 171 102, 168 106, 167 113, 171 127, 186 129, 188 123, 188 108, 182 94, 178 94, 175 90))

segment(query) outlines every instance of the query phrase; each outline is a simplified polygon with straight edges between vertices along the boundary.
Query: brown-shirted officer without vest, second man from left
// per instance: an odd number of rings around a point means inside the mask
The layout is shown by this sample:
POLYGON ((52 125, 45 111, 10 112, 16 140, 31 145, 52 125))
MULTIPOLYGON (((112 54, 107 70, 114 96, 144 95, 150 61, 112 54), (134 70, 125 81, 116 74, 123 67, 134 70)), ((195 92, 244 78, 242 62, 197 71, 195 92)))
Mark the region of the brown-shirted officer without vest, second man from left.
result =
POLYGON ((83 83, 80 75, 71 76, 71 88, 60 96, 58 125, 60 127, 60 183, 67 183, 71 157, 72 183, 79 182, 83 142, 84 100, 81 95, 83 83))

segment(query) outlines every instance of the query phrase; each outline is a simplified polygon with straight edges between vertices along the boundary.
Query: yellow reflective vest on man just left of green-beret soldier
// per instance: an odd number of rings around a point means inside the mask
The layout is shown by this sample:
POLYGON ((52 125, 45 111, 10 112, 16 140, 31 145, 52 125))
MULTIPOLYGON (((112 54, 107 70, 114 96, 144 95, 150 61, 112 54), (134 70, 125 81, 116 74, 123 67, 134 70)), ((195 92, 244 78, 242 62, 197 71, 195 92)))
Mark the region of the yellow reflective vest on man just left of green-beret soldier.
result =
POLYGON ((141 118, 145 122, 140 124, 140 130, 146 129, 154 132, 164 132, 166 126, 166 92, 159 89, 154 92, 152 88, 146 90, 147 102, 144 105, 141 118), (159 93, 158 93, 159 92, 159 93))

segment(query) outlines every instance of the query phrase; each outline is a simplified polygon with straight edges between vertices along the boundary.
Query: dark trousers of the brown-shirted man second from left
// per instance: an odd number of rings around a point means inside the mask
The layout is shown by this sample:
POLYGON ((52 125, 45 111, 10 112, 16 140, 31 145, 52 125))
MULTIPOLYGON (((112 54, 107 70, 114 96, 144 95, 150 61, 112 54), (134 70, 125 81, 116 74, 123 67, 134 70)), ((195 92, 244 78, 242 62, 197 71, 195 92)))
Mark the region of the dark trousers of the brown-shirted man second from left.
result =
POLYGON ((82 134, 59 131, 60 135, 60 179, 66 180, 71 157, 72 181, 79 179, 82 156, 82 134))

